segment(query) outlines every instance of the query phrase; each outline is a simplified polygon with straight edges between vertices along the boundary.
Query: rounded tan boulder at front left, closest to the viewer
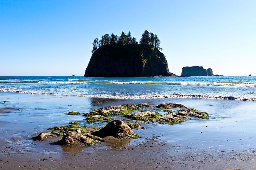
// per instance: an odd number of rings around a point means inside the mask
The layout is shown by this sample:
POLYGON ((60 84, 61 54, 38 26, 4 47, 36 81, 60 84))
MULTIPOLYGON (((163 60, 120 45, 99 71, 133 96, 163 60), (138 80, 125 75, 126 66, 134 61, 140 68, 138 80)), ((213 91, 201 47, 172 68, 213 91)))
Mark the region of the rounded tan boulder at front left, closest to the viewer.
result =
POLYGON ((61 140, 57 143, 62 146, 71 146, 71 145, 94 145, 98 140, 93 140, 87 136, 84 136, 80 133, 69 132, 65 134, 61 140))

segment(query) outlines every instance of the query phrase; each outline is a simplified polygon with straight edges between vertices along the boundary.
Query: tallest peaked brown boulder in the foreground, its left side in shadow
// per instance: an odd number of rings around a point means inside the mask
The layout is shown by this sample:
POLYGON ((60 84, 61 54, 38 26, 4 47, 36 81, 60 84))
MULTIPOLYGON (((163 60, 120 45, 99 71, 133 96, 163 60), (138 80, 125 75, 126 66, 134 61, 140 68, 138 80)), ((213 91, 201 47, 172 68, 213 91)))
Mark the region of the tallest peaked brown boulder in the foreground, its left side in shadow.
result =
POLYGON ((131 128, 124 123, 121 119, 113 120, 109 122, 105 127, 95 131, 92 135, 98 137, 113 136, 115 138, 123 139, 137 139, 140 136, 134 133, 131 128))

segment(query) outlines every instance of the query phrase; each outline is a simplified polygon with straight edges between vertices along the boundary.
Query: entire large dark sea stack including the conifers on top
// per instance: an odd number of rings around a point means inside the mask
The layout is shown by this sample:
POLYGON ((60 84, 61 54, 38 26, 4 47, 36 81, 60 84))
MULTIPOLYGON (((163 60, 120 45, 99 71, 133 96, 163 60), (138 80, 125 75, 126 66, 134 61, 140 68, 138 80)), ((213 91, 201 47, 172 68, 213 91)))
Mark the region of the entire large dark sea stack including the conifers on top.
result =
POLYGON ((85 77, 177 76, 169 72, 165 55, 160 52, 156 34, 144 31, 138 41, 128 32, 120 36, 105 34, 93 41, 92 56, 85 77))

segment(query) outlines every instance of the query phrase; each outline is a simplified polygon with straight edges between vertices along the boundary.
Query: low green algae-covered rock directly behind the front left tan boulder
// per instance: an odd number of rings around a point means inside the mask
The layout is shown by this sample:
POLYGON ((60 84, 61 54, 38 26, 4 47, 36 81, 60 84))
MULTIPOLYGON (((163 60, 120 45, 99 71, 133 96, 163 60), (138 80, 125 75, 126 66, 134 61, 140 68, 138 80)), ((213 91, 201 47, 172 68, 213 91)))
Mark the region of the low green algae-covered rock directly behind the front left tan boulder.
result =
POLYGON ((81 134, 88 133, 86 126, 77 126, 77 125, 68 125, 68 126, 60 126, 60 127, 52 127, 48 130, 52 130, 51 133, 56 136, 63 136, 69 132, 78 132, 81 134))

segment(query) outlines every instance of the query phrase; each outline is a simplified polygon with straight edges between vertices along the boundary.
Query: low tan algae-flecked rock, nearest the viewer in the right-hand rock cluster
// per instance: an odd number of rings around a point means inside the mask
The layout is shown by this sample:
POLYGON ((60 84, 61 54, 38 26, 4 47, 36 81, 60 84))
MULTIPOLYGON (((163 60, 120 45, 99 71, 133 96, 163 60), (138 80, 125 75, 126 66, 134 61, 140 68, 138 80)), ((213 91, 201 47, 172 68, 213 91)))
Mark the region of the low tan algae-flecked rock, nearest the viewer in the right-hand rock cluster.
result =
POLYGON ((158 122, 158 123, 171 123, 171 124, 176 124, 176 123, 181 123, 185 120, 190 120, 190 117, 187 116, 181 116, 178 114, 173 114, 173 113, 166 113, 164 115, 161 115, 160 117, 151 120, 151 122, 158 122))

